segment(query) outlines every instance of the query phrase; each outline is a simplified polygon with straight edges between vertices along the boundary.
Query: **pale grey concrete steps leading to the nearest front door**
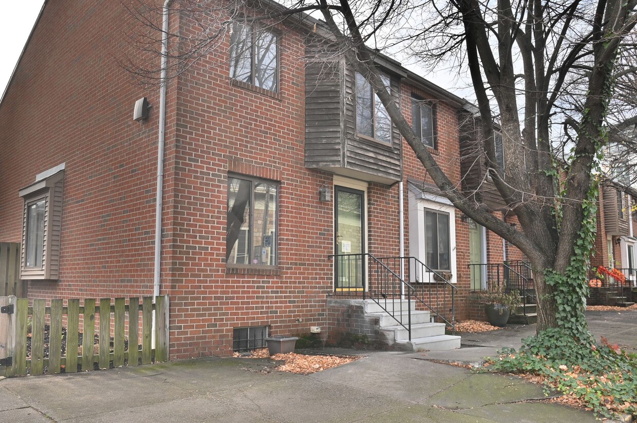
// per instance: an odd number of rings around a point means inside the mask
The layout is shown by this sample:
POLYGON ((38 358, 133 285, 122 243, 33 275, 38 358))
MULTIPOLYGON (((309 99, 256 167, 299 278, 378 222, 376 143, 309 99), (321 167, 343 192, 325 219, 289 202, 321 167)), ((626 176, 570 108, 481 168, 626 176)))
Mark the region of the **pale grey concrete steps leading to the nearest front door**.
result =
POLYGON ((407 300, 381 300, 385 312, 374 300, 365 300, 365 314, 378 319, 380 331, 385 334, 389 345, 400 346, 408 351, 446 351, 460 348, 460 336, 445 335, 445 324, 434 322, 431 312, 416 310, 416 302, 407 300), (408 326, 408 316, 412 313, 412 340, 409 331, 392 317, 400 319, 408 326))

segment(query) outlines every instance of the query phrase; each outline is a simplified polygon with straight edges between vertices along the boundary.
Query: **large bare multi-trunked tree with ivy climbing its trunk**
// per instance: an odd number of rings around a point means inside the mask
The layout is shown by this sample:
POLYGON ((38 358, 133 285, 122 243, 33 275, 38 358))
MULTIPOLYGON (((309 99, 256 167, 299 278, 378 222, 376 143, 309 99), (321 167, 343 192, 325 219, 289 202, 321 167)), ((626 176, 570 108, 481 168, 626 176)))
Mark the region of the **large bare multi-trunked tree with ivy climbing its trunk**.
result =
POLYGON ((302 12, 320 12, 325 25, 315 24, 315 32, 332 46, 326 51, 344 55, 371 84, 441 192, 529 258, 538 291, 538 333, 556 328, 582 340, 590 336, 583 296, 595 230, 595 174, 609 132, 624 131, 626 136, 630 128, 634 135, 637 119, 634 109, 624 106, 624 116, 608 118, 620 108, 613 96, 616 85, 634 87, 634 66, 627 53, 631 49, 624 41, 630 39, 636 22, 636 3, 299 0, 288 8, 276 8, 265 1, 185 0, 180 2, 180 13, 188 11, 201 30, 193 33, 201 37, 178 36, 173 70, 178 73, 192 60, 222 48, 222 36, 232 31, 233 22, 292 25, 300 24, 302 12), (252 6, 268 13, 255 15, 252 6), (519 219, 520 230, 494 217, 475 196, 452 183, 401 113, 375 61, 380 48, 401 45, 433 65, 452 60, 468 69, 485 139, 483 157, 499 194, 519 219), (497 165, 495 123, 502 137, 506 174, 497 165), (559 144, 569 152, 555 160, 559 144))

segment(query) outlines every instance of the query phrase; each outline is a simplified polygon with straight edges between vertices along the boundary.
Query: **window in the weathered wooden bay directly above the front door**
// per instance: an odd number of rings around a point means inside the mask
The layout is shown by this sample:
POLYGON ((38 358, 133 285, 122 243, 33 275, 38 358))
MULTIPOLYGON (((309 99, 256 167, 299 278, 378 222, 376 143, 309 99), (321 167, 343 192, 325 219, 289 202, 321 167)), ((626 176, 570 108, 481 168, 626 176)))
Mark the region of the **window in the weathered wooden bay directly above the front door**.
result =
MULTIPOLYGON (((390 90, 390 79, 381 75, 387 90, 390 90)), ((356 73, 356 132, 387 144, 392 142, 392 121, 371 84, 359 73, 356 73)))

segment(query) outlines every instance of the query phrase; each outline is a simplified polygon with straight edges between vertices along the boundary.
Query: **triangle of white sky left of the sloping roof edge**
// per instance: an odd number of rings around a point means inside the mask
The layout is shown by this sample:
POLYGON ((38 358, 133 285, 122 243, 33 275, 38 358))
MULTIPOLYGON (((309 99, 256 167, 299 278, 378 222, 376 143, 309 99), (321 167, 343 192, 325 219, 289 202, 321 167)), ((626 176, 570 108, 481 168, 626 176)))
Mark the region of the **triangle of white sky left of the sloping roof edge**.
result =
POLYGON ((3 1, 0 13, 0 95, 20 59, 44 0, 3 1))

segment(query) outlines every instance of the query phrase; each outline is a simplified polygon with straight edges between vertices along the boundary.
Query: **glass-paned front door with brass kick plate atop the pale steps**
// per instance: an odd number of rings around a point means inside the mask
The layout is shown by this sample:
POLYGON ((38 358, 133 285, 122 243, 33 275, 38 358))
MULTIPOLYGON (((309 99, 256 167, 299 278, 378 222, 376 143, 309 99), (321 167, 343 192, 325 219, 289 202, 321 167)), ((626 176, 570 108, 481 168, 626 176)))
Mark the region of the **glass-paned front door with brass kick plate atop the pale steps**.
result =
POLYGON ((365 288, 365 193, 335 187, 334 233, 336 289, 362 291, 365 288))

